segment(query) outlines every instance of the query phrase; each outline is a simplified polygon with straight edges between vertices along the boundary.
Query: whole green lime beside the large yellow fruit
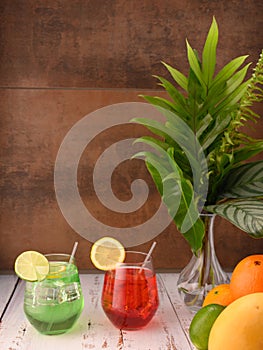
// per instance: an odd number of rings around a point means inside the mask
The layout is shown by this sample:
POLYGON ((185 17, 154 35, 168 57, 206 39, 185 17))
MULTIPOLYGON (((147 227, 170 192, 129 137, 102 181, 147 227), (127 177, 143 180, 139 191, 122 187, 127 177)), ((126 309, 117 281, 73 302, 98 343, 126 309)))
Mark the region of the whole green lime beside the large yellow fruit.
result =
POLYGON ((207 350, 210 330, 224 308, 222 305, 209 304, 194 315, 189 328, 189 336, 198 350, 207 350))

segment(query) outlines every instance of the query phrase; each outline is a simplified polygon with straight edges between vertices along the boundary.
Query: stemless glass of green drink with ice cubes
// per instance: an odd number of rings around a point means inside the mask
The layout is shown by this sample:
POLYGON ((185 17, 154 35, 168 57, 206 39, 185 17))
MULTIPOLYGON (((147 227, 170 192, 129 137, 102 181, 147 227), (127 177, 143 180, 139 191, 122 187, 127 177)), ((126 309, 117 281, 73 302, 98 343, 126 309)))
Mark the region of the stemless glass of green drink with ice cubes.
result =
POLYGON ((45 256, 49 274, 41 282, 26 282, 24 311, 40 333, 61 334, 72 328, 83 310, 78 269, 68 254, 45 256))

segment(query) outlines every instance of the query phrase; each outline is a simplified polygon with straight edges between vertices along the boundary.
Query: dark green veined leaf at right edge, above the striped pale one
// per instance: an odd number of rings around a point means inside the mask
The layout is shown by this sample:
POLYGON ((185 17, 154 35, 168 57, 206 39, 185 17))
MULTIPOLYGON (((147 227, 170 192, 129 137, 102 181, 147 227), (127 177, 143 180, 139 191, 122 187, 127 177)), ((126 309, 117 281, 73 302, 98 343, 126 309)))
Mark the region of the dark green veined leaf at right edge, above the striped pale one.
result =
POLYGON ((263 161, 243 164, 229 172, 223 197, 263 198, 263 161))

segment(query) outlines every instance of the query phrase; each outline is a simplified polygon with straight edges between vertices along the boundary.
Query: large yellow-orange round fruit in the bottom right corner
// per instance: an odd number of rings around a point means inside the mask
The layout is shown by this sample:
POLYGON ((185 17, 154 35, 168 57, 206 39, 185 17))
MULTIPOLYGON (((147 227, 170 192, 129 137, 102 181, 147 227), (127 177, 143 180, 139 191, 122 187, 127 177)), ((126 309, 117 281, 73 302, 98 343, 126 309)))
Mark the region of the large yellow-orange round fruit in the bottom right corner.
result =
POLYGON ((209 336, 209 350, 263 349, 263 293, 236 299, 216 319, 209 336))

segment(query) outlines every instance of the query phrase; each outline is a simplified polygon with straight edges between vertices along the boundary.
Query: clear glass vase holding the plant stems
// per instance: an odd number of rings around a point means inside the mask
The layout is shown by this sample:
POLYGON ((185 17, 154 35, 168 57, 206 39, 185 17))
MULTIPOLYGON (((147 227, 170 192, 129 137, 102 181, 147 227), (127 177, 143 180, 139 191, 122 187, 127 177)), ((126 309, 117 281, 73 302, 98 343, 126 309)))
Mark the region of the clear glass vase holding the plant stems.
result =
POLYGON ((177 281, 180 298, 192 312, 202 307, 209 290, 219 284, 229 283, 229 276, 223 271, 215 252, 215 215, 201 214, 200 217, 205 225, 203 247, 197 255, 193 254, 177 281))

